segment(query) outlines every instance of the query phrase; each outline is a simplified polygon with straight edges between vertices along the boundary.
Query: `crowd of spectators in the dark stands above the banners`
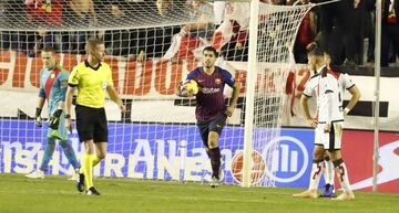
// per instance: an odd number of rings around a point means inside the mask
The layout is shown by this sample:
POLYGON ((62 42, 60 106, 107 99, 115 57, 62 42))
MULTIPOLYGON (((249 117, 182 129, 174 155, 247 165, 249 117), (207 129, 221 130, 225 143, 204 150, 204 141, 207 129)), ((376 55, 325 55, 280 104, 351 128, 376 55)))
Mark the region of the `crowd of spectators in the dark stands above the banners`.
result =
MULTIPOLYGON (((262 0, 273 4, 307 4, 309 0, 262 0)), ((327 0, 310 0, 311 3, 327 0)), ((314 7, 303 20, 295 43, 297 63, 307 63, 306 54, 314 45, 331 53, 335 65, 367 65, 375 60, 376 0, 341 0, 314 7)), ((57 52, 84 52, 91 36, 103 39, 106 53, 144 61, 195 56, 201 45, 214 45, 225 60, 246 61, 248 51, 248 2, 205 0, 2 0, 0 49, 25 52, 34 56, 44 45, 57 52), (176 25, 171 20, 190 17, 192 24, 176 25), (106 14, 106 15, 105 15, 106 14), (226 18, 228 17, 228 18, 226 18), (164 20, 161 26, 126 28, 145 19, 164 20), (20 31, 12 23, 28 20, 37 31, 20 31), (170 22, 167 22, 170 20, 170 22), (61 30, 48 31, 47 26, 61 30), (101 25, 110 30, 96 29, 101 25), (112 26, 112 28, 108 28, 112 26), (177 45, 177 47, 176 47, 177 45)), ((381 66, 399 66, 399 0, 382 1, 381 66)), ((21 28, 23 29, 23 28, 21 28)))

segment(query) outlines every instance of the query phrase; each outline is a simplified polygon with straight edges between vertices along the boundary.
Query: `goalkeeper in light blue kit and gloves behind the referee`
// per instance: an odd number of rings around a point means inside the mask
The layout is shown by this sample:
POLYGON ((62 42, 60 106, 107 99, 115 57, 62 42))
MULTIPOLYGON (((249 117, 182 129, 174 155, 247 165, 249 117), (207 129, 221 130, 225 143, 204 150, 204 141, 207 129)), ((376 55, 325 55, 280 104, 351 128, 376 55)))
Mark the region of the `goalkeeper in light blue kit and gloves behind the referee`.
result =
POLYGON ((78 174, 80 164, 73 148, 68 140, 65 119, 62 116, 64 114, 63 108, 69 73, 55 62, 55 54, 52 46, 45 46, 42 50, 41 56, 44 67, 40 72, 40 90, 34 123, 38 127, 42 127, 41 111, 47 99, 50 115, 47 135, 48 143, 45 146, 41 166, 37 171, 27 174, 27 178, 44 178, 44 171, 48 170, 49 162, 54 152, 55 140, 60 141, 62 151, 78 174))

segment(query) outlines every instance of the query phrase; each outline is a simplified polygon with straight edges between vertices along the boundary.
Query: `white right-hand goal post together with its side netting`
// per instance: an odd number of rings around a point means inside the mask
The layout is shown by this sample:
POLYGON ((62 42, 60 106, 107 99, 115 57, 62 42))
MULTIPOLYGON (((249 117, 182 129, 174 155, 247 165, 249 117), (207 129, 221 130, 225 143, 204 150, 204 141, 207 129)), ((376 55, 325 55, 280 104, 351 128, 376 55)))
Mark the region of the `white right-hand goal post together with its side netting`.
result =
POLYGON ((252 0, 243 187, 254 185, 257 166, 253 155, 256 151, 265 158, 266 175, 255 185, 275 185, 275 171, 280 158, 276 139, 280 132, 283 106, 287 104, 283 85, 294 67, 297 31, 311 7, 270 6, 252 0), (259 84, 259 81, 264 82, 259 84))

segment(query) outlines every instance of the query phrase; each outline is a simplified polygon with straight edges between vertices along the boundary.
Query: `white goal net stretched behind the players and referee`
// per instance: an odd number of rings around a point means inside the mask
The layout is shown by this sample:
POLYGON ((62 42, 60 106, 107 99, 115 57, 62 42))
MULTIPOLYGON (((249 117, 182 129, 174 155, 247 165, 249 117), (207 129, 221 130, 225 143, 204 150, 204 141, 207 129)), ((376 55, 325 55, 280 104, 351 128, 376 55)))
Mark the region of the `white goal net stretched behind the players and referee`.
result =
MULTIPOLYGON (((33 121, 40 50, 52 45, 58 62, 72 71, 85 58, 85 41, 96 36, 105 42, 105 62, 127 113, 121 115, 106 99, 108 156, 95 175, 211 179, 195 98, 177 97, 174 88, 201 65, 202 50, 213 45, 219 51, 217 65, 242 87, 219 139, 222 181, 274 187, 282 167, 278 136, 290 52, 311 6, 253 3, 255 18, 249 1, 1 1, 0 172, 32 172, 43 155, 47 125, 39 128, 33 121)), ((226 104, 231 95, 226 89, 226 104)), ((79 157, 83 147, 75 130, 70 140, 79 157)), ((49 174, 72 171, 61 149, 50 166, 49 174)))

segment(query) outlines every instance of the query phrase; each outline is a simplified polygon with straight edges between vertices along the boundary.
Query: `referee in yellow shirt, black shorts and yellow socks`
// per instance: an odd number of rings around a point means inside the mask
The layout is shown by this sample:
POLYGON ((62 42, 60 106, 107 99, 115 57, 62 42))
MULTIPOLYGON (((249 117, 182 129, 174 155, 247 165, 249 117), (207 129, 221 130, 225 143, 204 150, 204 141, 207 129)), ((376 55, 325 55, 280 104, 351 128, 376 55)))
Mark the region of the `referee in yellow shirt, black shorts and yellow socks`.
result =
POLYGON ((65 126, 72 129, 71 106, 72 97, 78 89, 76 129, 79 140, 84 142, 84 153, 80 170, 78 190, 86 189, 86 194, 100 195, 93 185, 93 167, 106 155, 108 121, 104 109, 105 90, 110 98, 117 104, 121 111, 125 111, 112 82, 110 66, 103 62, 105 46, 99 39, 90 39, 85 45, 86 60, 78 64, 68 81, 69 87, 65 98, 65 126), (95 153, 94 153, 95 145, 95 153))

